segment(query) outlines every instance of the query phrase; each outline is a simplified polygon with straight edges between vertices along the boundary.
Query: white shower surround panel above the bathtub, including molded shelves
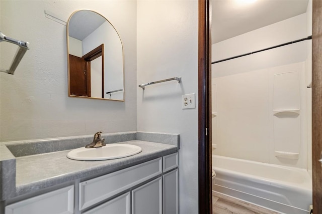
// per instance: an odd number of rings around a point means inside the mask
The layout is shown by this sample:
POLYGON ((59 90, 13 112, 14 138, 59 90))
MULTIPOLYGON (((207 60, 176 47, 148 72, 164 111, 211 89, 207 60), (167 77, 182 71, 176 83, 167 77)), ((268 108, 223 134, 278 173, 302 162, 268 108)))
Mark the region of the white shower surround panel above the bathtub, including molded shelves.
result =
POLYGON ((214 154, 306 167, 305 62, 212 81, 214 154))

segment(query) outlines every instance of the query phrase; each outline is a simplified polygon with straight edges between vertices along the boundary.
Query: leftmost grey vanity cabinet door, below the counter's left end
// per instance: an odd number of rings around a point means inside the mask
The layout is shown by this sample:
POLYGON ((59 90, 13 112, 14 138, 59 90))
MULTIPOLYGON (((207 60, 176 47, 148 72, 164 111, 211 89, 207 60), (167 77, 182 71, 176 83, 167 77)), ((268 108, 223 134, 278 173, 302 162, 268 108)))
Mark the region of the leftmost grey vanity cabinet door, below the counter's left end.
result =
POLYGON ((6 206, 6 214, 71 214, 74 212, 74 186, 31 197, 6 206))

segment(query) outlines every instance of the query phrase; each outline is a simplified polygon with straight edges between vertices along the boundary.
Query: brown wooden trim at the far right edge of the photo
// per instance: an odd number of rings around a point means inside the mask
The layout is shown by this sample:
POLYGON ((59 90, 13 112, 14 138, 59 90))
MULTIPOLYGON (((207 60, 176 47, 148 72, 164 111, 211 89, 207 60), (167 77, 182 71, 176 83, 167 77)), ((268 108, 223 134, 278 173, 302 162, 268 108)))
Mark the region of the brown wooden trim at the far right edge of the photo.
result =
POLYGON ((312 23, 313 213, 322 213, 322 1, 313 1, 312 23))

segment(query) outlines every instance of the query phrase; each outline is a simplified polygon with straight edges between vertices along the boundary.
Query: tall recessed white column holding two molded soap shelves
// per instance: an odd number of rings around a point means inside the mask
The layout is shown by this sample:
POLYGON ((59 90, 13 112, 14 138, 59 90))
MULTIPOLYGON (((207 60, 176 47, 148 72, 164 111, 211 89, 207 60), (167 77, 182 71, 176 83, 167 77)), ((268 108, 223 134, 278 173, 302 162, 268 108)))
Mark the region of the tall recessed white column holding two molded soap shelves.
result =
POLYGON ((274 156, 294 160, 299 159, 303 139, 300 77, 304 71, 300 66, 285 69, 274 74, 272 106, 274 156))

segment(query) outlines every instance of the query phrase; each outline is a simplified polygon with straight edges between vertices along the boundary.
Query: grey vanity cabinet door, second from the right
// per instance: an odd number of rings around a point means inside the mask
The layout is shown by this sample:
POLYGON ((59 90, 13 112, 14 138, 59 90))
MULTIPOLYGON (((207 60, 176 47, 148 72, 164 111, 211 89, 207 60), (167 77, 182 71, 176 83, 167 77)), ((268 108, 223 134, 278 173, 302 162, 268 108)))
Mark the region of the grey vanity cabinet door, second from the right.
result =
POLYGON ((162 177, 132 191, 132 214, 162 214, 162 177))

